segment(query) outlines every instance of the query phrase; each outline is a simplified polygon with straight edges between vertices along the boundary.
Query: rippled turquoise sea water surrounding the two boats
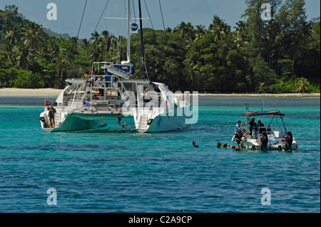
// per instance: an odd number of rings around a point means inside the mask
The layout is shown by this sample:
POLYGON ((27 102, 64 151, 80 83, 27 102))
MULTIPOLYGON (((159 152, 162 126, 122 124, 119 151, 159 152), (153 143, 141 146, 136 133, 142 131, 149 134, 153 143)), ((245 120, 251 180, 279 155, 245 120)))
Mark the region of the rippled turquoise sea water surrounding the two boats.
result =
POLYGON ((215 147, 233 144, 245 102, 260 110, 261 98, 200 97, 196 125, 158 134, 135 132, 133 120, 46 133, 43 102, 0 97, 0 212, 320 212, 320 97, 264 100, 286 114, 295 152, 215 147))

